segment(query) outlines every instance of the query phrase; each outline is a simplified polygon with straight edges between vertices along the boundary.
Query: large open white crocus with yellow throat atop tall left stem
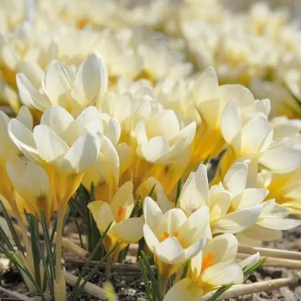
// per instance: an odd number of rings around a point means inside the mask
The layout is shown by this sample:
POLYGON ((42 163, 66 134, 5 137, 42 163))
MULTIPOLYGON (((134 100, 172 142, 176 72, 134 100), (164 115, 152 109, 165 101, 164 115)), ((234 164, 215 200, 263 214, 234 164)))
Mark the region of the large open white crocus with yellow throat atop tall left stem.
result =
POLYGON ((100 139, 92 132, 79 134, 74 143, 68 144, 62 137, 73 122, 64 108, 54 106, 43 113, 41 124, 33 132, 16 118, 8 126, 9 135, 21 152, 44 166, 55 192, 55 207, 62 210, 85 170, 95 162, 100 148, 100 139))

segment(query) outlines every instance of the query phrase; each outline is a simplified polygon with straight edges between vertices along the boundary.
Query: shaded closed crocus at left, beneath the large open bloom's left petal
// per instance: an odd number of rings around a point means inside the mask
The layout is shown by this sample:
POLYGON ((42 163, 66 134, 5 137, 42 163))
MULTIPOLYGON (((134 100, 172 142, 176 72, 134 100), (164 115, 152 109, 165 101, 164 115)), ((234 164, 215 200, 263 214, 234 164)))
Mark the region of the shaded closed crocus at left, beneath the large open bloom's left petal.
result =
POLYGON ((53 208, 53 193, 46 171, 38 164, 12 155, 7 161, 6 169, 16 191, 27 205, 28 213, 40 219, 40 212, 49 222, 53 208))

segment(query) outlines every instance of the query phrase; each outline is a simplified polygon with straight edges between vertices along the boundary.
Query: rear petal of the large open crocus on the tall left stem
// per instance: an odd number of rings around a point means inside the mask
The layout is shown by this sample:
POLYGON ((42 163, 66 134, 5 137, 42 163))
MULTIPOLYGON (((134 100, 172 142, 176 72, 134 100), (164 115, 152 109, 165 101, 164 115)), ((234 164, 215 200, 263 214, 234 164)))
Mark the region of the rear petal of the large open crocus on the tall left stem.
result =
POLYGON ((61 106, 48 108, 41 117, 41 124, 51 127, 60 137, 74 118, 61 106))

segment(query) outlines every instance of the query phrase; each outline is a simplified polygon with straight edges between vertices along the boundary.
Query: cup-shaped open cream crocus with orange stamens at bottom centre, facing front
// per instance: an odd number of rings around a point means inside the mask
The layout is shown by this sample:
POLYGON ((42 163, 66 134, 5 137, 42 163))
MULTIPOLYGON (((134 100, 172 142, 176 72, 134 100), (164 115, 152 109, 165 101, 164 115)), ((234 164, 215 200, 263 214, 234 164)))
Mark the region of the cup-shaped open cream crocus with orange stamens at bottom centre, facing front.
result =
POLYGON ((145 242, 154 254, 160 273, 169 278, 182 264, 203 248, 208 228, 208 207, 202 206, 189 218, 180 208, 163 213, 156 202, 143 201, 145 242))

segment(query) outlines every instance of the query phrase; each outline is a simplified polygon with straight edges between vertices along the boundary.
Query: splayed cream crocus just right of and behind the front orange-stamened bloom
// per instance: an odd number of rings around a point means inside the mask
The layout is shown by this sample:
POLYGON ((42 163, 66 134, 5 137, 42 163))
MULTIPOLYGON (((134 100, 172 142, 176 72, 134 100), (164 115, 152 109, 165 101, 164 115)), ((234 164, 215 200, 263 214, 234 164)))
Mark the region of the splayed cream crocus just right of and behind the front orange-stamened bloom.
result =
MULTIPOLYGON (((239 185, 239 184, 237 184, 239 185)), ((230 210, 232 193, 222 183, 208 187, 206 167, 201 164, 186 180, 178 201, 178 206, 187 216, 201 206, 209 207, 210 228, 212 233, 238 233, 251 227, 261 212, 257 204, 250 204, 236 211, 230 210)))

